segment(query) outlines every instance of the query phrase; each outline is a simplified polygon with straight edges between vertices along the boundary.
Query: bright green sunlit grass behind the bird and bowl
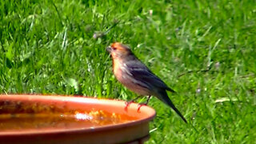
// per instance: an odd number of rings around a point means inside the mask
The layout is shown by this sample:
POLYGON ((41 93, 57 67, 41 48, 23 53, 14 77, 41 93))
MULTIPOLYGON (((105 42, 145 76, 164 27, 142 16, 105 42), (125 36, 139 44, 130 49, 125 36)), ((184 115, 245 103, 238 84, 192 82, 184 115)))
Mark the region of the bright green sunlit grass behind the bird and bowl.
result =
POLYGON ((105 50, 123 42, 178 92, 170 98, 190 122, 152 98, 158 115, 147 143, 255 143, 255 6, 249 0, 2 0, 0 93, 134 98, 114 78, 105 50), (209 71, 179 76, 190 70, 209 71))

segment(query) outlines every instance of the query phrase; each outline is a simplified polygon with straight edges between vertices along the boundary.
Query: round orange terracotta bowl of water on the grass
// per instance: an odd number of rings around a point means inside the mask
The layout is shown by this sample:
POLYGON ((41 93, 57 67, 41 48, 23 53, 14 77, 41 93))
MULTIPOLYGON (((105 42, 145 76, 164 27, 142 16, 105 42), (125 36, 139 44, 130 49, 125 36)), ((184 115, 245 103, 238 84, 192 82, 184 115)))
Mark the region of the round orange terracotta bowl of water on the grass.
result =
POLYGON ((143 143, 155 110, 138 111, 136 103, 125 107, 109 99, 0 95, 0 143, 143 143))

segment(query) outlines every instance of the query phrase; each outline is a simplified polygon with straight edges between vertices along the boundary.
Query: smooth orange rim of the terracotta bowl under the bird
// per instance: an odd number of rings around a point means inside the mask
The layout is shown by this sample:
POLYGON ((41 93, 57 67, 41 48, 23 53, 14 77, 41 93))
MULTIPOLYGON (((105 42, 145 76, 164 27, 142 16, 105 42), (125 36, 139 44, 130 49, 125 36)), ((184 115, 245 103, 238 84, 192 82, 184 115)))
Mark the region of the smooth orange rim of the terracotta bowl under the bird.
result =
MULTIPOLYGON (((98 102, 98 103, 107 103, 109 105, 116 105, 119 106, 121 103, 126 101, 118 100, 118 99, 109 99, 109 98, 91 98, 86 96, 70 96, 70 95, 58 95, 58 94, 0 94, 0 100, 4 99, 3 97, 7 98, 22 98, 23 99, 51 99, 54 101, 62 101, 62 102, 78 102, 79 103, 86 103, 88 102, 98 102), (26 97, 26 98, 25 98, 26 97)), ((131 103, 129 106, 130 108, 138 107, 138 103, 131 103)), ((0 137, 6 137, 6 136, 14 136, 14 135, 37 135, 37 134, 68 134, 68 133, 91 133, 91 132, 98 132, 98 131, 105 131, 105 130, 114 130, 114 129, 121 129, 125 127, 130 126, 136 126, 145 122, 150 122, 150 120, 154 119, 156 115, 156 111, 151 108, 150 106, 142 106, 140 109, 141 113, 149 113, 150 114, 146 118, 138 118, 137 120, 130 121, 130 122, 124 122, 124 123, 118 123, 114 125, 106 125, 106 126, 98 126, 98 127, 88 127, 88 128, 72 128, 72 129, 60 129, 60 130, 26 130, 26 131, 0 131, 0 137)))

